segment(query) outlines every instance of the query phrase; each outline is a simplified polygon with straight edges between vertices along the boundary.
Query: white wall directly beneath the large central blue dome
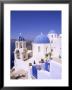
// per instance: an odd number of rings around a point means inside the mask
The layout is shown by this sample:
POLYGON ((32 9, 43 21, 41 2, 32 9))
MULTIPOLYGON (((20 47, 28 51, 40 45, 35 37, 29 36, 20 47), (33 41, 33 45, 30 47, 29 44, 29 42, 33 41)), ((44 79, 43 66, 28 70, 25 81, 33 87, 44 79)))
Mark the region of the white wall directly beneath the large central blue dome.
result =
POLYGON ((32 51, 33 51, 33 57, 38 57, 39 59, 44 58, 46 54, 46 48, 47 53, 50 52, 50 44, 35 44, 32 43, 32 51), (38 46, 40 46, 40 52, 38 52, 38 46))

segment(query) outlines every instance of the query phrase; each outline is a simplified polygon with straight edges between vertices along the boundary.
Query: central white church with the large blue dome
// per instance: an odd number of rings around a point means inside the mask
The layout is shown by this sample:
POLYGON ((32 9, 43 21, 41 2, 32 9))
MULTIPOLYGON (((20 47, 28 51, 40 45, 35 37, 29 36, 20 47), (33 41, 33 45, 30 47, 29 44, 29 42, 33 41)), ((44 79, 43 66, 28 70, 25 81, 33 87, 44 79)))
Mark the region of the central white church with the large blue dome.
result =
POLYGON ((50 40, 46 35, 41 33, 32 43, 33 57, 35 57, 36 60, 41 60, 42 58, 45 58, 45 55, 50 51, 50 40))

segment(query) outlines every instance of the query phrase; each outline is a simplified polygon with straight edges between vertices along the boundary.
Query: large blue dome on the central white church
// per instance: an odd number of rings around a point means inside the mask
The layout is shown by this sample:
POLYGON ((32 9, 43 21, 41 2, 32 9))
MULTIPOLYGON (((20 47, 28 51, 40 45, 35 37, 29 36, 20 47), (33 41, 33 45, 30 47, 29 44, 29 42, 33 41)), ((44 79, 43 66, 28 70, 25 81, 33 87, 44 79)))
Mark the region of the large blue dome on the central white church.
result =
POLYGON ((50 43, 50 41, 46 35, 40 34, 35 38, 34 43, 50 43))

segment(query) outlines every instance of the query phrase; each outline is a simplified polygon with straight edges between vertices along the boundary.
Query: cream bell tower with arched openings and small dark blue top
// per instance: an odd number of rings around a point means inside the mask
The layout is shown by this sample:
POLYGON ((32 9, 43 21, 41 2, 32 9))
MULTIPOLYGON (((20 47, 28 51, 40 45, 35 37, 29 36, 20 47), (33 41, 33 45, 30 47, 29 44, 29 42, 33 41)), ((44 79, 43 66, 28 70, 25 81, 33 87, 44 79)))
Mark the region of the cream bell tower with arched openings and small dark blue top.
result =
POLYGON ((19 39, 15 42, 14 59, 28 59, 26 41, 21 36, 19 36, 19 39))

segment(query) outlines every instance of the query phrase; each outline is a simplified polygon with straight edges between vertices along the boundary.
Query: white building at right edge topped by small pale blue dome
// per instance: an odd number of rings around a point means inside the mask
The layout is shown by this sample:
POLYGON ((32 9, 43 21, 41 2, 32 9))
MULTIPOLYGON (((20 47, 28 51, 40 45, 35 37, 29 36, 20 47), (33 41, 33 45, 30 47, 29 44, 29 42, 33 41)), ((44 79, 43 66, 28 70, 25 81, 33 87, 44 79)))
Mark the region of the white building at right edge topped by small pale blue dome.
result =
POLYGON ((50 40, 50 46, 52 50, 52 57, 61 57, 61 34, 57 34, 55 31, 50 31, 48 33, 48 38, 50 40))

